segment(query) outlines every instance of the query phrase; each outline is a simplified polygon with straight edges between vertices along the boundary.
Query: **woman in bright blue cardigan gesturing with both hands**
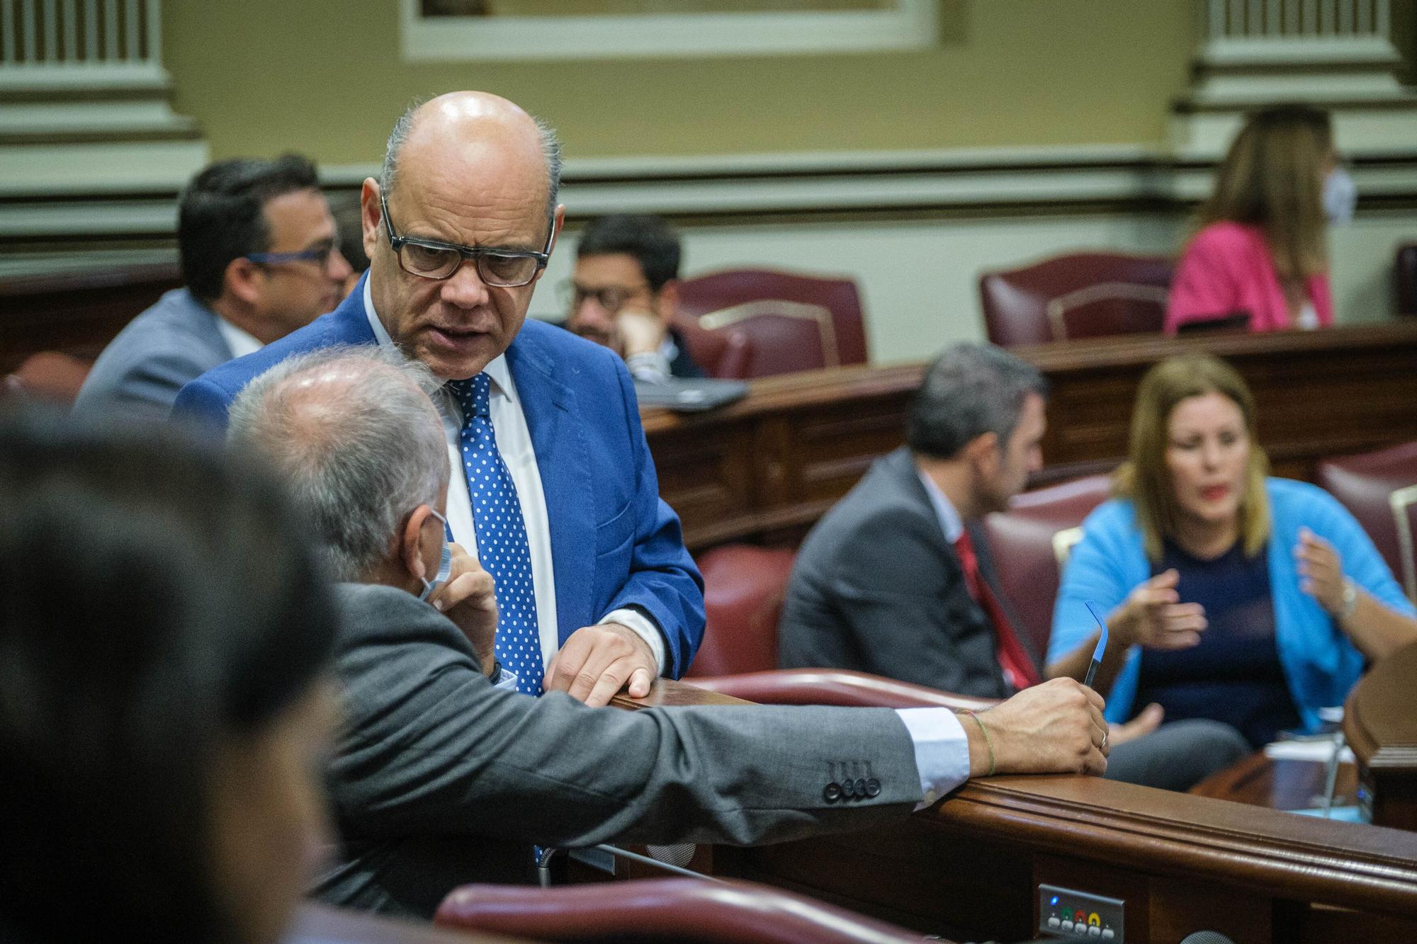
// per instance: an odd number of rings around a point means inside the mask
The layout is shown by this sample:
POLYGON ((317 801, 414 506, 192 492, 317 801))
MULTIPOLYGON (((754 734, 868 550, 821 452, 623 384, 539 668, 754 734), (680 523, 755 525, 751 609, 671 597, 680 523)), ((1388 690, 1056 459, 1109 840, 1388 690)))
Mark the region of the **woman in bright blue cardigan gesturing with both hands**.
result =
POLYGON ((1118 498, 1083 523, 1049 644, 1049 675, 1081 679, 1100 635, 1084 601, 1108 614, 1108 720, 1158 703, 1258 747, 1316 729, 1367 662, 1417 641, 1373 541, 1328 492, 1268 478, 1254 431, 1250 390, 1214 357, 1142 378, 1118 498))

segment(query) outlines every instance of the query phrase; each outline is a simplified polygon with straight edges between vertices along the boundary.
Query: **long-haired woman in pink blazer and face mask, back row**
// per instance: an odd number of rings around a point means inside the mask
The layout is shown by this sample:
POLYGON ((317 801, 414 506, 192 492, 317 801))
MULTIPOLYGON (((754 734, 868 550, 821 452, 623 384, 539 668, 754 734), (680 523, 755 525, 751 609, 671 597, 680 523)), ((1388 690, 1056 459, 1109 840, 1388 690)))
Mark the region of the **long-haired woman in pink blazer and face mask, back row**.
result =
POLYGON ((1248 315, 1251 332, 1332 325, 1326 225, 1350 220, 1355 201, 1328 112, 1254 112, 1176 268, 1166 333, 1233 315, 1248 315))

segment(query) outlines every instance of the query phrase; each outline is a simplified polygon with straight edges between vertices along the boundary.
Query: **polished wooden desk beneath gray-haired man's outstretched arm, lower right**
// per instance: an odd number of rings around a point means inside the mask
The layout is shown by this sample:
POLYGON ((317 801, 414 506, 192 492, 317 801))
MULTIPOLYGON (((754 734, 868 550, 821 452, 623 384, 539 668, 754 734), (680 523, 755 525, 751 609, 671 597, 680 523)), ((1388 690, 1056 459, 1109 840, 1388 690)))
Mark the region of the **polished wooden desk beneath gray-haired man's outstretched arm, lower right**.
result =
MULTIPOLYGON (((616 703, 697 699, 659 682, 616 703)), ((1417 940, 1417 833, 1093 777, 976 780, 887 828, 716 846, 711 863, 955 940, 1033 937, 1039 883, 1122 899, 1132 944, 1202 928, 1243 943, 1417 940)))

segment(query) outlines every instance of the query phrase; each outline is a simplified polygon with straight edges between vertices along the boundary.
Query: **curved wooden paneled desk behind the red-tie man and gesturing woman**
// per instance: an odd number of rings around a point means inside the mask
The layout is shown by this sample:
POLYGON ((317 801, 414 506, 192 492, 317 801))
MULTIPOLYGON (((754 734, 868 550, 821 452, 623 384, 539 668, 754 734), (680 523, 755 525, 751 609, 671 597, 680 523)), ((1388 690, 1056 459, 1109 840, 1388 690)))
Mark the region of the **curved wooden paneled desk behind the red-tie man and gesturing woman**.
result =
MULTIPOLYGON (((1051 386, 1040 482, 1105 471, 1127 451, 1132 400, 1158 360, 1207 350, 1254 390, 1278 475, 1417 439, 1417 323, 1196 339, 1102 337, 1016 349, 1051 386)), ((690 550, 730 540, 795 544, 877 456, 904 442, 922 364, 839 367, 752 381, 707 414, 643 412, 660 495, 690 550)))

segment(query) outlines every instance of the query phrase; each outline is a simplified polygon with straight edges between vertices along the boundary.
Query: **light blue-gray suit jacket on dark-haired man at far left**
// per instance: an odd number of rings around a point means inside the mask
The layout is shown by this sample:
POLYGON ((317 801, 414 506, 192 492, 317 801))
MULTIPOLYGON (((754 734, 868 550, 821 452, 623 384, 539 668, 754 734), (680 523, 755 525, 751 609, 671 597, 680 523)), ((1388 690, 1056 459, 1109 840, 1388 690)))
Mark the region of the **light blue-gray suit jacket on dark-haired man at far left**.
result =
POLYGON ((74 410, 162 422, 183 384, 228 360, 231 347, 217 327, 217 313, 187 289, 173 289, 109 342, 74 410))

